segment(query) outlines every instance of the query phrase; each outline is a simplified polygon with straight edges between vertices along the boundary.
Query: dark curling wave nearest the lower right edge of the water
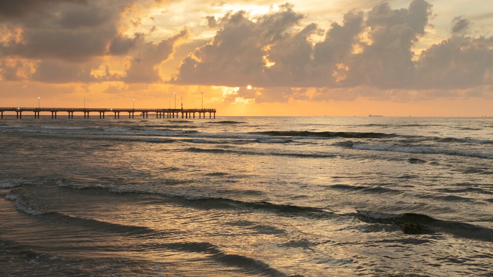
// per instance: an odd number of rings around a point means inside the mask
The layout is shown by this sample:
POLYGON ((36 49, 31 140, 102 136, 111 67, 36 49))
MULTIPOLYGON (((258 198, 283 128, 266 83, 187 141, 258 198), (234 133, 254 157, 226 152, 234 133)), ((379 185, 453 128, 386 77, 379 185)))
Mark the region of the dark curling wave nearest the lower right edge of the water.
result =
POLYGON ((365 222, 396 224, 407 234, 446 232, 458 237, 493 242, 493 229, 469 223, 435 219, 428 215, 405 213, 387 214, 372 211, 356 211, 365 222))

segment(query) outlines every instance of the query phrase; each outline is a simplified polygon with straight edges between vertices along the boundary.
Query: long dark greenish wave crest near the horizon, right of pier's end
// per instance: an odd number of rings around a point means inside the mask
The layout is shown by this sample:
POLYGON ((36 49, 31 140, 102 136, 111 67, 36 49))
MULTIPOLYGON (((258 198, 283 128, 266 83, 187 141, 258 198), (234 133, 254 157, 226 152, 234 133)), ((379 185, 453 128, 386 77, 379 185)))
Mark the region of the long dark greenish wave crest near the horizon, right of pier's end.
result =
POLYGON ((395 134, 373 133, 373 132, 312 132, 312 131, 263 131, 249 132, 248 134, 259 134, 267 136, 297 136, 297 137, 342 137, 342 138, 390 138, 395 134))

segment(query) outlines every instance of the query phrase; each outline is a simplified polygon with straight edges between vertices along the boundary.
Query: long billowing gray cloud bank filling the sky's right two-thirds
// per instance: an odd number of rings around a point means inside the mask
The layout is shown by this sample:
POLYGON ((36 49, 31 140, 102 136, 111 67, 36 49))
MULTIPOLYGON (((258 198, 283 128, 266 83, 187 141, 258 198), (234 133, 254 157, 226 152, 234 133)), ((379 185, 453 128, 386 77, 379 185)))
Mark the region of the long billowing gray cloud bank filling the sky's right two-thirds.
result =
MULTIPOLYGON (((379 4, 366 16, 353 11, 344 16, 342 24, 333 23, 324 40, 316 44, 311 42, 311 36, 320 34, 320 27, 313 23, 300 28, 303 15, 288 4, 279 12, 254 20, 242 11, 229 14, 215 21, 222 28, 211 43, 183 60, 179 73, 170 82, 318 87, 320 98, 337 88, 425 90, 430 78, 435 80, 433 86, 437 89, 491 85, 492 37, 456 35, 421 55, 413 52, 425 34, 431 7, 425 0, 414 0, 402 9, 379 4)), ((464 32, 469 26, 467 20, 458 18, 453 30, 464 32)), ((353 91, 348 98, 365 94, 365 90, 353 91)), ((285 91, 283 97, 289 97, 289 93, 293 97, 300 94, 285 91)), ((276 101, 278 96, 271 100, 276 101)), ((268 101, 266 93, 255 97, 268 101)))

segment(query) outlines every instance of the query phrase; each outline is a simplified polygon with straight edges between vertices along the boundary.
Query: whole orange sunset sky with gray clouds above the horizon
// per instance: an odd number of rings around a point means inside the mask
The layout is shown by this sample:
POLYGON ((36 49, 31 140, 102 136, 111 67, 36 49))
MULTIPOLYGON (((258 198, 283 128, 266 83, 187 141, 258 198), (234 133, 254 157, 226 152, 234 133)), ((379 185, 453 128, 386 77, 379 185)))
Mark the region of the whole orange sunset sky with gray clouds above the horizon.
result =
POLYGON ((0 107, 493 116, 491 0, 0 3, 0 107))

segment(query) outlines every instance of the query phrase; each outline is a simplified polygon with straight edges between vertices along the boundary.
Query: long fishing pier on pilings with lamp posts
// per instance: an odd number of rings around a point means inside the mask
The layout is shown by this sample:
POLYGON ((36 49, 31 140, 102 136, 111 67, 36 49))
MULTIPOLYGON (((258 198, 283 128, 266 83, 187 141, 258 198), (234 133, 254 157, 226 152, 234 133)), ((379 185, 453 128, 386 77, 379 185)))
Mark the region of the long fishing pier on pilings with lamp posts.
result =
POLYGON ((122 109, 122 108, 2 108, 0 107, 0 118, 3 119, 4 112, 15 112, 18 119, 22 119, 23 112, 33 112, 34 118, 39 118, 41 112, 51 113, 51 118, 56 119, 58 113, 67 113, 69 118, 73 118, 73 113, 84 113, 84 118, 89 118, 90 113, 99 113, 99 118, 105 118, 106 113, 110 113, 114 118, 120 118, 120 113, 128 113, 128 118, 134 118, 135 113, 141 113, 142 118, 148 118, 149 113, 156 113, 156 118, 215 118, 216 109, 122 109))

